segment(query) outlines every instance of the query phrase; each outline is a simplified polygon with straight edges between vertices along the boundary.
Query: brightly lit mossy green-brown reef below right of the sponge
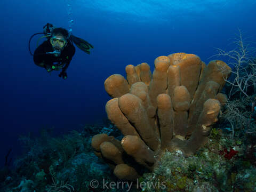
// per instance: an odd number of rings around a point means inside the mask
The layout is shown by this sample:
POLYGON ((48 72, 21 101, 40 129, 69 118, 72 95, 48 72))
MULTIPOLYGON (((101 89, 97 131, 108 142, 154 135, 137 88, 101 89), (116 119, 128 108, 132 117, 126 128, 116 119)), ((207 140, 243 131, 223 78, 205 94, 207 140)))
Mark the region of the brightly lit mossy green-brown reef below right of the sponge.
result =
MULTIPOLYGON (((164 153, 155 169, 139 179, 143 191, 255 191, 256 169, 244 156, 245 144, 230 139, 220 129, 211 131, 207 144, 190 157, 177 151, 164 153), (239 150, 233 158, 222 151, 239 150), (160 185, 153 186, 152 183, 160 185), (151 185, 150 185, 151 184, 151 185)), ((229 151, 229 152, 230 152, 229 151)))

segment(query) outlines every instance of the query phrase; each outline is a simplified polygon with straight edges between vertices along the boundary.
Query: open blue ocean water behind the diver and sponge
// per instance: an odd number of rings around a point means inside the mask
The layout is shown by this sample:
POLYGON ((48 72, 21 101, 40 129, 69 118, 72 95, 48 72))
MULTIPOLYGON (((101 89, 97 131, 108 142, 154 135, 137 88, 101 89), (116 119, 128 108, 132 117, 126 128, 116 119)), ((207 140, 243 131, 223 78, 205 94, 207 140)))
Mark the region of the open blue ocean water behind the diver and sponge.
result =
POLYGON ((111 74, 125 76, 126 65, 147 62, 153 70, 156 57, 175 52, 208 63, 238 29, 256 40, 255 0, 3 0, 0 7, 1 165, 9 148, 18 154, 20 134, 53 126, 61 134, 106 118, 103 83, 111 74), (94 49, 87 55, 76 48, 63 80, 34 64, 28 40, 47 22, 68 29, 70 19, 73 34, 94 49))

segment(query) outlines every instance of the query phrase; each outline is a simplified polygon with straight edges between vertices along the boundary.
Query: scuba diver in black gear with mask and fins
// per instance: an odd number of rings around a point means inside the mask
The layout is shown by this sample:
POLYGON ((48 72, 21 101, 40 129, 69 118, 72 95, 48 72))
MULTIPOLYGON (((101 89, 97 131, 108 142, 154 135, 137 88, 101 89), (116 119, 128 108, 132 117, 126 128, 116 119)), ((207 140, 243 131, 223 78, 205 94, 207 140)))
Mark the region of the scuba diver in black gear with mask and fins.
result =
POLYGON ((50 73, 53 70, 61 70, 59 77, 67 78, 67 68, 71 59, 75 54, 74 44, 87 54, 90 54, 90 49, 93 46, 84 39, 78 38, 64 28, 56 28, 51 23, 44 26, 44 33, 36 33, 29 39, 29 52, 34 56, 34 62, 37 66, 43 67, 50 73), (30 41, 38 34, 44 34, 37 41, 37 48, 34 54, 30 51, 30 41), (46 37, 47 40, 38 46, 41 38, 46 37))

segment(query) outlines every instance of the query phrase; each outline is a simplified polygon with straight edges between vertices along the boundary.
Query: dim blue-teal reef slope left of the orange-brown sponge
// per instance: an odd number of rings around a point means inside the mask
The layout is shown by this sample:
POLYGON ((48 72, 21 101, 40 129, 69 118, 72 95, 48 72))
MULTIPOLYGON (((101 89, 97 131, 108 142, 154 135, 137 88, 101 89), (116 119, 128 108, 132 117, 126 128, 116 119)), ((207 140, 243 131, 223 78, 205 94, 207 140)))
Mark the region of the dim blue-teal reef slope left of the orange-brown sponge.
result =
POLYGON ((40 137, 20 137, 25 151, 8 172, 6 166, 0 167, 0 191, 111 191, 103 189, 100 181, 111 182, 116 177, 102 159, 95 159, 88 130, 119 137, 121 133, 112 128, 113 124, 97 123, 58 137, 48 130, 42 130, 40 137), (99 181, 97 189, 92 188, 91 180, 99 181))

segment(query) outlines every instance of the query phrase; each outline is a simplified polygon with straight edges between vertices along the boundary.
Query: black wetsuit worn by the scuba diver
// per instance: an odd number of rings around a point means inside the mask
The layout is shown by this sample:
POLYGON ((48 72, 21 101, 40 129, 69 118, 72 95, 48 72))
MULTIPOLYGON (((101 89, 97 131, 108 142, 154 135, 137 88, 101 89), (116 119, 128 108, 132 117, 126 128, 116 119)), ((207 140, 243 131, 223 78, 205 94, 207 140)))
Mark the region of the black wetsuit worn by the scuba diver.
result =
MULTIPOLYGON (((44 54, 47 52, 53 52, 53 48, 49 41, 43 42, 37 47, 34 53, 34 62, 39 66, 40 63, 45 63, 47 66, 53 66, 54 62, 59 62, 57 65, 62 65, 62 73, 65 72, 69 66, 71 59, 75 54, 75 46, 68 42, 68 45, 61 51, 59 57, 55 57, 53 54, 44 54)), ((46 68, 46 66, 44 66, 46 68)))

